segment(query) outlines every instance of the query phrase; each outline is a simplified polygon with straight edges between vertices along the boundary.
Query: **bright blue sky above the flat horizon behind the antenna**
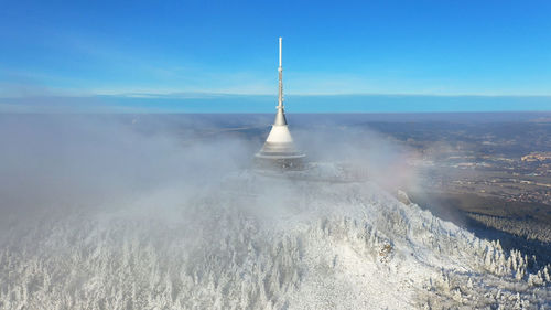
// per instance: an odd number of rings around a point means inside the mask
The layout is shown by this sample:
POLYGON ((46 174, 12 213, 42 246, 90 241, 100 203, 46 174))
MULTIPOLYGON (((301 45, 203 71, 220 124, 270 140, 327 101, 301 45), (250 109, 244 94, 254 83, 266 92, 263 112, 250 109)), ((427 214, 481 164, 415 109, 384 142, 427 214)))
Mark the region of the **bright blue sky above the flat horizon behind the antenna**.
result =
POLYGON ((547 0, 1 7, 1 111, 272 111, 278 36, 296 111, 551 110, 547 0))

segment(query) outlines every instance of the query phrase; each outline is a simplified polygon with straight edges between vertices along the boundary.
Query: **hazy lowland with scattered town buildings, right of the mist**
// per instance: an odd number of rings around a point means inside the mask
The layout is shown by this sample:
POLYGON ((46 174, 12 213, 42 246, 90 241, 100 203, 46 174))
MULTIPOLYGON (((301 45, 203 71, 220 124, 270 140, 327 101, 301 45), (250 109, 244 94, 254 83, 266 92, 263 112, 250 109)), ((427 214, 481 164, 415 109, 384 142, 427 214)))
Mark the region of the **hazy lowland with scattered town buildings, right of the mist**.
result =
MULTIPOLYGON (((371 122, 411 150, 413 202, 469 226, 551 242, 551 122, 371 122)), ((486 237, 491 237, 487 235, 486 237)))

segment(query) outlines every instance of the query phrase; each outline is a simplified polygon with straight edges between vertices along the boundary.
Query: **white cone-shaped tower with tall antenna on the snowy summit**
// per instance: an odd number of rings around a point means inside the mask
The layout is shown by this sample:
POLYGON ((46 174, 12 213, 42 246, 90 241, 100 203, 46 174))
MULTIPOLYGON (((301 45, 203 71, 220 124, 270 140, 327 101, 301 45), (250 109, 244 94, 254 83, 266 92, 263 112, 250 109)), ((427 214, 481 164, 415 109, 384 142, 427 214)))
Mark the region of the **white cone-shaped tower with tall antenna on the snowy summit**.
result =
POLYGON ((262 149, 255 156, 260 167, 300 170, 304 167, 304 153, 299 152, 289 131, 283 107, 283 67, 281 66, 282 39, 279 39, 279 99, 276 120, 262 149))

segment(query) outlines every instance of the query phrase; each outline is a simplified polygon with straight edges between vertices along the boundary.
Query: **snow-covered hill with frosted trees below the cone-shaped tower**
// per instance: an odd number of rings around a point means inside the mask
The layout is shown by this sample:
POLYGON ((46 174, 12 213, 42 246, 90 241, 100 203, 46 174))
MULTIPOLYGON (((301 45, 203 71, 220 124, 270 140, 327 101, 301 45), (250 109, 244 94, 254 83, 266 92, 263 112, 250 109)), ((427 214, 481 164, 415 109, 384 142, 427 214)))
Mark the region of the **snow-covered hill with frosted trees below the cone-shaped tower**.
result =
POLYGON ((0 309, 551 309, 551 266, 324 173, 3 218, 0 309))

